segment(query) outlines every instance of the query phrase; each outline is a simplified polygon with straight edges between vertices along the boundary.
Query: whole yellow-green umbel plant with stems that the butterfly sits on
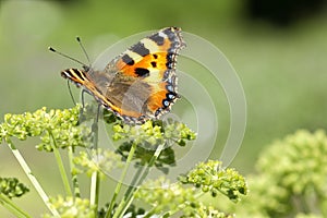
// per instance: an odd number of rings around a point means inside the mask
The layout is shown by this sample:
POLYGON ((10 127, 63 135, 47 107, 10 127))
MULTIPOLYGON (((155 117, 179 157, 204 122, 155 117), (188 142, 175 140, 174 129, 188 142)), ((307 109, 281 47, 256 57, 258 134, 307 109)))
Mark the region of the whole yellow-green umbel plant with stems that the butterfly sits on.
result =
MULTIPOLYGON (((106 112, 105 120, 112 129, 112 138, 119 143, 117 150, 97 148, 97 119, 90 128, 86 123, 95 118, 94 108, 86 107, 80 117, 81 108, 76 106, 65 110, 50 110, 46 108, 34 113, 7 114, 4 122, 0 124, 0 140, 7 142, 16 159, 31 179, 36 191, 43 197, 50 213, 44 217, 136 217, 137 215, 170 217, 179 214, 181 217, 232 217, 218 209, 217 204, 207 204, 201 196, 210 192, 211 196, 222 193, 231 201, 238 202, 240 194, 246 194, 247 187, 244 178, 233 169, 225 169, 221 162, 210 160, 201 162, 180 181, 171 184, 167 179, 159 178, 156 181, 145 181, 152 167, 157 167, 168 173, 168 168, 175 164, 174 147, 186 146, 187 141, 193 141, 196 134, 185 124, 171 121, 147 121, 142 125, 128 125, 106 112), (85 122, 81 123, 81 118, 85 122), (12 137, 27 140, 38 136, 41 143, 36 146, 38 150, 52 152, 57 160, 61 179, 65 187, 65 196, 45 196, 45 192, 28 169, 24 158, 19 154, 12 137), (78 152, 75 149, 80 147, 78 152), (70 166, 70 177, 63 167, 61 153, 66 150, 70 166), (128 187, 121 201, 117 197, 121 194, 129 166, 134 162, 144 166, 143 171, 135 172, 133 180, 137 181, 128 187), (116 189, 110 190, 109 196, 113 196, 100 208, 99 197, 107 192, 100 192, 100 179, 112 169, 122 168, 121 178, 116 189), (78 177, 90 177, 90 196, 82 197, 78 177), (193 186, 190 186, 193 184, 193 186), (74 189, 71 191, 71 186, 74 189), (148 187, 154 189, 148 189, 148 187), (134 203, 137 199, 137 204, 134 203), (143 202, 150 206, 144 209, 138 206, 143 202)), ((16 179, 2 180, 2 194, 9 198, 21 196, 28 191, 16 179)), ((108 197, 105 195, 105 197, 108 197)), ((2 197, 8 208, 16 216, 29 217, 16 207, 10 199, 2 197)))

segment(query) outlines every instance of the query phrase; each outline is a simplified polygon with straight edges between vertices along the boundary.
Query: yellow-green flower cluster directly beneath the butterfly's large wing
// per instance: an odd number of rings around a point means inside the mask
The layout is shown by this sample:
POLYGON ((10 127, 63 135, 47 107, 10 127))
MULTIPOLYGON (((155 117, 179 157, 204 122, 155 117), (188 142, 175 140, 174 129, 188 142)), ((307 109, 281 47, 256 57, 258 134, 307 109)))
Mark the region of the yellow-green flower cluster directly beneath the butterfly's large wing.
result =
POLYGON ((123 141, 117 153, 126 158, 131 146, 136 144, 136 152, 133 159, 137 159, 136 165, 144 166, 150 161, 157 147, 165 145, 159 157, 155 161, 156 167, 168 172, 165 165, 173 166, 175 162, 174 152, 171 145, 178 144, 184 146, 186 141, 193 141, 196 134, 190 130, 184 123, 170 121, 162 123, 162 121, 147 121, 142 125, 121 125, 114 124, 112 126, 114 141, 123 141))

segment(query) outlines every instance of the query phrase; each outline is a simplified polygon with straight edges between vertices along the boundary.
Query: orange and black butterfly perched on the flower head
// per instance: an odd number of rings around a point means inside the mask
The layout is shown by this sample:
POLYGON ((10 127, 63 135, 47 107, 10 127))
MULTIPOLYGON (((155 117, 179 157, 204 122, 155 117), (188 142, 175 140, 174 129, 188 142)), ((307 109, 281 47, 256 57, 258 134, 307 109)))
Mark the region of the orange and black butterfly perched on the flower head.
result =
POLYGON ((185 46, 181 28, 167 27, 141 39, 102 71, 66 69, 61 76, 89 93, 125 123, 142 124, 170 111, 177 93, 175 64, 185 46))

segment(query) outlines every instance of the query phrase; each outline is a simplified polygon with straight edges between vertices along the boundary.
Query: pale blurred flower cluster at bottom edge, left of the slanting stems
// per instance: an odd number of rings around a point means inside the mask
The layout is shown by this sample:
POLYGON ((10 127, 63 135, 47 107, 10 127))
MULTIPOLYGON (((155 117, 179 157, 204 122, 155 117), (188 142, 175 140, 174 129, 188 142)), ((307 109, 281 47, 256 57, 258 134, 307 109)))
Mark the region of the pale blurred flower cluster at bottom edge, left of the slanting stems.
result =
MULTIPOLYGON (((53 208, 56 208, 61 218, 72 218, 72 217, 83 217, 83 218, 94 218, 95 217, 95 206, 89 204, 88 199, 83 199, 80 197, 65 197, 58 196, 56 198, 49 199, 53 208)), ((55 218, 49 214, 45 214, 44 218, 55 218)))

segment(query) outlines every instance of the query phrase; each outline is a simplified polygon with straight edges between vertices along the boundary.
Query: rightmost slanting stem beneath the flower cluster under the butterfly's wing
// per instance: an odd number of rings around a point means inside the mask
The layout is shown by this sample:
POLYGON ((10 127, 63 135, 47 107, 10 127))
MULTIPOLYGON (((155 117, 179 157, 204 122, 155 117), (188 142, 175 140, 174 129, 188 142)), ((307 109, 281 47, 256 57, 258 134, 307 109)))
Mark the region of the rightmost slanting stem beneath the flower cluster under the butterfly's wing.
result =
MULTIPOLYGON (((140 185, 142 184, 142 182, 145 180, 145 178, 147 177, 150 168, 154 166, 155 161, 158 159, 161 150, 165 147, 165 143, 160 144, 154 156, 152 157, 152 159, 148 162, 148 166, 146 167, 146 169, 144 169, 144 172, 142 173, 141 179, 138 180, 138 182, 136 184, 131 185, 125 194, 125 197, 121 201, 121 203, 119 204, 118 208, 117 208, 117 216, 113 216, 113 218, 117 217, 122 217, 123 214, 126 211, 126 209, 129 208, 129 206, 132 204, 133 199, 134 199, 134 193, 137 192, 137 190, 140 189, 140 185)), ((135 177, 138 177, 138 174, 136 174, 135 177)))

